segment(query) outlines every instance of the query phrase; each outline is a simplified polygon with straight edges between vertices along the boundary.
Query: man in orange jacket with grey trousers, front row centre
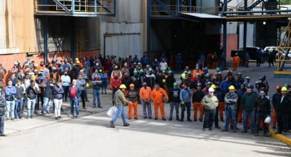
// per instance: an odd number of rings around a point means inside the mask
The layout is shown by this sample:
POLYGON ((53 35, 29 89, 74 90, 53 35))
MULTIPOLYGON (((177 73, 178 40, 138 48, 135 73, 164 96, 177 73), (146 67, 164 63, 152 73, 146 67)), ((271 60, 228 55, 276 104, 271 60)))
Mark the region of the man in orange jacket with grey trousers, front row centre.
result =
POLYGON ((147 86, 146 82, 143 82, 143 87, 139 91, 139 96, 141 98, 141 104, 143 105, 143 119, 149 118, 152 119, 152 104, 151 104, 151 95, 152 89, 147 86), (148 109, 148 114, 147 114, 148 109), (148 116, 148 117, 147 117, 148 116))

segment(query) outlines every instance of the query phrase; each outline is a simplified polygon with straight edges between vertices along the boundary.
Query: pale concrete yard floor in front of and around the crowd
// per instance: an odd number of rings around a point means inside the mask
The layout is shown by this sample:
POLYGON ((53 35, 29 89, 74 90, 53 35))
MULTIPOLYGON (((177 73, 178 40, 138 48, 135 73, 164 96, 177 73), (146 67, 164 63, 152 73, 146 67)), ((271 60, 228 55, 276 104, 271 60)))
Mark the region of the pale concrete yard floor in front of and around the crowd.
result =
MULTIPOLYGON (((251 77, 252 82, 266 75, 270 95, 277 84, 291 83, 288 79, 274 79, 274 68, 267 64, 256 68, 251 63, 250 68, 240 67, 239 71, 244 77, 251 77)), ((139 104, 139 120, 128 120, 130 127, 122 127, 119 118, 116 128, 111 129, 111 118, 106 115, 112 107, 111 92, 102 95, 102 109, 91 108, 91 89, 89 93, 90 102, 87 110, 81 109, 81 118, 69 118, 69 104, 64 102, 61 120, 51 114, 6 122, 8 136, 0 137, 0 156, 291 156, 290 147, 263 137, 262 132, 258 137, 240 133, 242 123, 238 123, 238 133, 232 133, 220 129, 202 131, 202 122, 168 121, 169 104, 165 105, 167 121, 144 120, 139 104)), ((220 122, 223 126, 224 122, 220 122)))

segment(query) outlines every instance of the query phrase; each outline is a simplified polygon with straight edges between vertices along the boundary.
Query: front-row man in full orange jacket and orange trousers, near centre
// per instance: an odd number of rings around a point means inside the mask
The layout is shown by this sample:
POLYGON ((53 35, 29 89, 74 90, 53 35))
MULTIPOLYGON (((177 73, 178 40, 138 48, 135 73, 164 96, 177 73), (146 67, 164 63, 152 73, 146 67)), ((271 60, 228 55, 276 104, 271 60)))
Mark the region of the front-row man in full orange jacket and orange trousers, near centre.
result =
POLYGON ((155 120, 158 119, 158 109, 161 111, 161 119, 166 120, 165 111, 164 111, 164 97, 168 101, 168 95, 164 89, 159 88, 159 84, 156 84, 155 89, 152 90, 152 101, 154 102, 155 107, 155 120))

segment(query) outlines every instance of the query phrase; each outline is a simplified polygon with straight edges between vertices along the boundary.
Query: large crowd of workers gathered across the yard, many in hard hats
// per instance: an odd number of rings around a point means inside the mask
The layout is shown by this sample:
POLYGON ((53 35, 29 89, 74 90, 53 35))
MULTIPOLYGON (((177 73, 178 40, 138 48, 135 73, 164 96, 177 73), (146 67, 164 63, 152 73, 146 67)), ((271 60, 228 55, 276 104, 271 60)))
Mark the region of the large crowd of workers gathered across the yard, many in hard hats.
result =
MULTIPOLYGON (((273 129, 278 128, 276 133, 287 134, 291 128, 291 86, 289 84, 276 86, 277 93, 270 97, 265 75, 254 84, 250 77, 244 78, 242 73, 233 75, 232 71, 227 71, 227 75, 222 76, 223 69, 217 68, 218 63, 215 63, 215 59, 221 63, 218 59, 220 57, 213 56, 209 56, 213 62, 206 62, 208 56, 204 57, 201 54, 194 70, 191 71, 186 66, 180 80, 175 79, 171 69, 175 67, 178 73, 181 71, 183 60, 180 54, 172 59, 163 54, 153 62, 150 62, 146 53, 141 59, 137 55, 133 58, 107 56, 105 59, 100 56, 84 57, 75 61, 62 59, 46 64, 40 62, 39 65, 28 59, 22 66, 15 62, 10 75, 0 64, 0 89, 5 98, 5 101, 3 99, 0 101, 0 135, 5 136, 3 133, 5 119, 23 119, 24 107, 27 108, 26 118, 33 118, 37 110, 41 110, 43 116, 49 115, 51 100, 56 120, 62 118, 60 114, 62 102, 67 102, 68 98, 71 108, 69 116, 78 118, 79 101, 82 102, 83 109, 86 109, 86 102, 89 102, 87 98, 89 86, 93 89, 94 98, 91 107, 101 108, 100 95, 107 94, 108 85, 112 90, 112 104, 117 107, 110 127, 115 127, 114 122, 120 115, 123 118, 123 126, 129 125, 123 111, 126 104, 129 104, 127 116, 129 120, 132 118, 132 109, 133 118, 138 120, 138 104, 143 107, 144 119, 158 120, 160 110, 161 120, 166 120, 164 104, 169 102, 168 120, 173 120, 175 109, 176 120, 183 122, 186 111, 185 120, 203 122, 204 131, 206 128, 212 130, 213 123, 215 128, 220 129, 218 121, 225 120, 222 131, 229 131, 231 125, 232 131, 236 132, 237 122, 243 122, 243 133, 250 129, 254 136, 258 136, 258 131, 263 129, 264 136, 267 136, 269 125, 264 120, 271 116, 272 111, 273 129), (215 73, 209 73, 209 66, 215 68, 215 73), (1 104, 6 105, 2 107, 1 104), (152 104, 155 111, 153 116, 152 104), (192 106, 193 116, 191 116, 192 106)), ((237 71, 237 67, 233 66, 233 70, 237 71)))

